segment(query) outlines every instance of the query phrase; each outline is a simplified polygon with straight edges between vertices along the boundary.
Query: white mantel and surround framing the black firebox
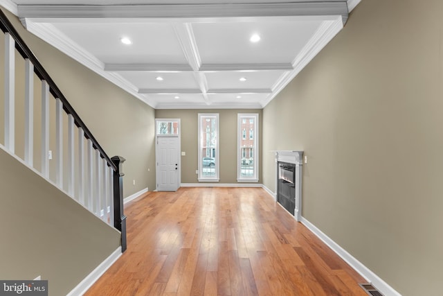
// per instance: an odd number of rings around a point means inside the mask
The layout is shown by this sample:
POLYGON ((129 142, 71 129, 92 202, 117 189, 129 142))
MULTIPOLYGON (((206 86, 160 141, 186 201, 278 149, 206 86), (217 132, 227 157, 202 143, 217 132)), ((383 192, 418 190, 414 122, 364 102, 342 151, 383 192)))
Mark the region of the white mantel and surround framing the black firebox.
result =
POLYGON ((303 165, 303 151, 296 150, 275 150, 275 200, 278 200, 278 162, 287 162, 296 165, 295 177, 295 211, 294 218, 300 221, 302 218, 302 165, 303 165))

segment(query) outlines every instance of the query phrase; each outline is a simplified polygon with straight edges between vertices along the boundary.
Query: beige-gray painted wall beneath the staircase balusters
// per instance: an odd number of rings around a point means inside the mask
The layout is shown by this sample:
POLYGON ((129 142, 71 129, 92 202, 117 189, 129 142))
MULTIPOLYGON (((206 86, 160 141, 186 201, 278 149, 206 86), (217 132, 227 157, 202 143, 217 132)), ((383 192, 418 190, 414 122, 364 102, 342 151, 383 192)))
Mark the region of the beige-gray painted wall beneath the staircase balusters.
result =
POLYGON ((1 149, 0 164, 0 279, 40 275, 49 295, 66 295, 120 246, 120 232, 1 149))

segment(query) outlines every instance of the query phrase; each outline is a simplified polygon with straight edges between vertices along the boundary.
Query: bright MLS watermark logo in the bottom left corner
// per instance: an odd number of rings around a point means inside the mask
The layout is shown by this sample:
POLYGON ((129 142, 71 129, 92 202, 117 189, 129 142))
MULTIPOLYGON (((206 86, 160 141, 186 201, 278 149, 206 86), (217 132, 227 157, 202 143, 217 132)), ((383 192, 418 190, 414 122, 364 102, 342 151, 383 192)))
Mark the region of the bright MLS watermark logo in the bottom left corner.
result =
POLYGON ((48 296, 48 281, 1 281, 0 296, 48 296))

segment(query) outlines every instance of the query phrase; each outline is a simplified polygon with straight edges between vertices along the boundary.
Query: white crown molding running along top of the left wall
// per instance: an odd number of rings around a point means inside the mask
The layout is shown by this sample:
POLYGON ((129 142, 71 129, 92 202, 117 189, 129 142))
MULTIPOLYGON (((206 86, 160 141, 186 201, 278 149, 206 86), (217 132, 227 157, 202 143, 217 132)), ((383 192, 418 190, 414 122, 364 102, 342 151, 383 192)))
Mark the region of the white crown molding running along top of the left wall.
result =
POLYGON ((27 18, 21 18, 21 22, 30 33, 33 33, 45 42, 48 42, 48 44, 51 44, 56 49, 80 62, 80 64, 83 64, 85 67, 98 73, 98 75, 114 83, 114 85, 117 85, 129 94, 132 94, 132 96, 135 96, 144 103, 147 103, 147 105, 154 107, 151 100, 147 99, 145 96, 143 96, 143 94, 138 94, 137 87, 132 85, 132 83, 127 81, 122 76, 118 75, 118 73, 104 71, 105 64, 100 62, 100 60, 91 55, 91 53, 88 51, 82 49, 81 46, 66 37, 66 35, 57 30, 57 28, 51 24, 35 23, 27 18))

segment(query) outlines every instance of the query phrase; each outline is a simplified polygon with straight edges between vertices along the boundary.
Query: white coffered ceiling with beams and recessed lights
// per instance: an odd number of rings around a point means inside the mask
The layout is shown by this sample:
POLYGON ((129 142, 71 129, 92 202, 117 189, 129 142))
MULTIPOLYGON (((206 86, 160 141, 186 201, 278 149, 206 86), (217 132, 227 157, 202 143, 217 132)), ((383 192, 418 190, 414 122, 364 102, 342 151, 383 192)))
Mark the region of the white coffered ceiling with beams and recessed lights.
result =
POLYGON ((7 0, 2 5, 28 31, 148 105, 194 109, 264 107, 341 31, 359 1, 7 0))

